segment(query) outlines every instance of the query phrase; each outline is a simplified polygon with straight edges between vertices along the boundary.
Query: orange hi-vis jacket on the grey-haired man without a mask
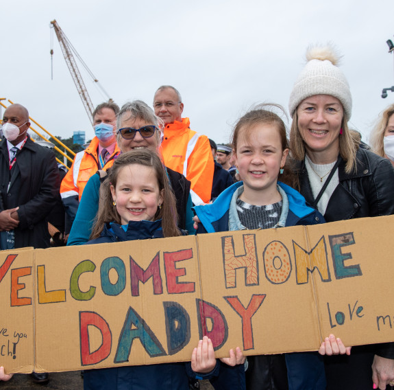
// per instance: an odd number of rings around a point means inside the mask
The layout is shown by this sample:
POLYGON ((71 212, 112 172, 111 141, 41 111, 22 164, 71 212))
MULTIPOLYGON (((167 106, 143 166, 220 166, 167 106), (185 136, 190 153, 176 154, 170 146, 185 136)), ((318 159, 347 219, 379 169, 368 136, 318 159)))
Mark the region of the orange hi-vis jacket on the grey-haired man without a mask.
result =
POLYGON ((190 130, 189 126, 188 118, 167 124, 161 151, 164 165, 186 176, 191 183, 193 203, 201 205, 210 201, 214 162, 208 137, 190 130))

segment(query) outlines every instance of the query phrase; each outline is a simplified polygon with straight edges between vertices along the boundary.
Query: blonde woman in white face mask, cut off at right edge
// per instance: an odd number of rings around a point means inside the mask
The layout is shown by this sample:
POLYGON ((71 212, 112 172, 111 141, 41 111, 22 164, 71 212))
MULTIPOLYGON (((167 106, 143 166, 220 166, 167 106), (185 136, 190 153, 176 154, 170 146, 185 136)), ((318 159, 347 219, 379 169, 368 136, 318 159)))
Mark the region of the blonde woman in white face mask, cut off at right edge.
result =
POLYGON ((394 166, 394 104, 381 114, 369 137, 373 152, 389 159, 394 166))

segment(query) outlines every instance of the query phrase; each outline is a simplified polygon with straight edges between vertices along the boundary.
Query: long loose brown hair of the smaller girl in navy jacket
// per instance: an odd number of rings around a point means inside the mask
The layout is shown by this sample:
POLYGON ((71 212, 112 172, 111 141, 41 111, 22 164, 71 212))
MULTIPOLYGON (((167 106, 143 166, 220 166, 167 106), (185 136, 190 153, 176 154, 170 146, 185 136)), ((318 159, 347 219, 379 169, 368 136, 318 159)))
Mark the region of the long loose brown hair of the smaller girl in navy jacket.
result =
POLYGON ((167 172, 165 171, 160 157, 149 149, 131 150, 121 154, 114 162, 114 165, 108 170, 108 176, 100 187, 99 211, 97 219, 93 226, 91 239, 100 236, 104 225, 108 222, 121 223, 121 217, 113 205, 110 187, 116 187, 116 181, 119 172, 127 165, 138 164, 153 168, 156 172, 160 192, 162 191, 163 203, 158 208, 154 220, 162 219, 162 229, 164 237, 180 236, 180 230, 177 228, 177 211, 175 206, 175 196, 169 185, 167 172))

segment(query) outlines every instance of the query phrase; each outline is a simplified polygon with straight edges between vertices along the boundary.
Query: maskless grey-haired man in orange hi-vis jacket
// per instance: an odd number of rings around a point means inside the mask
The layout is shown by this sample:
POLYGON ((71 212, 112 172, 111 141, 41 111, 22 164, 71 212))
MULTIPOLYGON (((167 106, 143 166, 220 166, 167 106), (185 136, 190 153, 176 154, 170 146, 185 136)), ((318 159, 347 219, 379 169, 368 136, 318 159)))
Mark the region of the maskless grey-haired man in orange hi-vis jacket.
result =
POLYGON ((208 137, 190 130, 189 119, 182 118, 181 95, 174 87, 160 87, 153 98, 153 108, 164 121, 161 145, 164 164, 190 181, 190 196, 195 205, 208 203, 214 172, 208 137))

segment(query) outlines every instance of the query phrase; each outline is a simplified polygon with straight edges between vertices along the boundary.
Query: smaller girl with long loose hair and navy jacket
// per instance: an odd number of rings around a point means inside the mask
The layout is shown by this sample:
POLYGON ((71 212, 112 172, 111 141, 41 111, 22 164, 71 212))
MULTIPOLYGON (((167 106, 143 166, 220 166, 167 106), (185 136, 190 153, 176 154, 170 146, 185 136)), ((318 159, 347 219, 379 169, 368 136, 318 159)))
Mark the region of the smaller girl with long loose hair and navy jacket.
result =
MULTIPOLYGON (((100 207, 88 244, 180 236, 175 197, 160 158, 149 149, 116 159, 101 186, 100 207)), ((85 390, 187 390, 188 378, 214 378, 220 363, 208 337, 191 363, 167 363, 84 371, 85 390)))

